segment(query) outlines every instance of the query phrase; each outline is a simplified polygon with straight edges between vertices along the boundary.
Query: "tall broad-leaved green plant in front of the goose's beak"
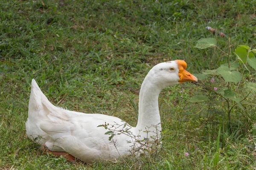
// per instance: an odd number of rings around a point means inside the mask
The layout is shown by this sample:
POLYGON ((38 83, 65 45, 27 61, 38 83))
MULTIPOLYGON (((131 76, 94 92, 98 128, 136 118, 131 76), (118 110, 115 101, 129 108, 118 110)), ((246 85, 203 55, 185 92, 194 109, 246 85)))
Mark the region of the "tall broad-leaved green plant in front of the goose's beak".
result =
MULTIPOLYGON (((230 113, 234 107, 238 106, 242 111, 244 111, 244 104, 255 105, 255 103, 247 102, 246 99, 255 96, 256 83, 248 81, 244 73, 245 70, 247 70, 250 75, 250 71, 247 67, 248 65, 256 70, 256 58, 253 54, 256 53, 256 49, 251 49, 247 45, 239 45, 235 52, 232 53, 232 47, 235 43, 231 45, 230 38, 227 41, 227 45, 228 51, 224 52, 217 46, 217 41, 214 38, 203 38, 198 40, 195 48, 218 48, 224 56, 227 57, 227 63, 222 64, 215 70, 206 70, 202 74, 198 74, 198 78, 200 79, 199 81, 207 89, 209 95, 193 96, 189 101, 209 102, 209 97, 211 99, 213 98, 212 95, 220 96, 222 99, 221 102, 224 103, 222 106, 227 113, 230 133, 232 133, 230 113), (225 86, 220 89, 217 89, 216 87, 212 89, 211 86, 206 85, 202 80, 206 79, 209 75, 219 77, 224 82, 225 86), (242 93, 239 93, 239 91, 242 91, 242 93)), ((212 78, 211 81, 214 82, 214 79, 212 78)))

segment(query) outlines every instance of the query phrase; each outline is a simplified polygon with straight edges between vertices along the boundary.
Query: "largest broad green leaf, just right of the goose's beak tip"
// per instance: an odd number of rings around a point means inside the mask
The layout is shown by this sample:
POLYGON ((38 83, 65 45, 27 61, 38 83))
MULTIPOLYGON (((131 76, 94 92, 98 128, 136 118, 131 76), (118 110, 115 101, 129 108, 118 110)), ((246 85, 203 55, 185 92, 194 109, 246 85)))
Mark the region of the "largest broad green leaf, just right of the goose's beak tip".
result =
POLYGON ((220 74, 226 82, 238 83, 241 80, 241 74, 236 70, 230 70, 227 66, 221 65, 217 69, 217 73, 220 74))

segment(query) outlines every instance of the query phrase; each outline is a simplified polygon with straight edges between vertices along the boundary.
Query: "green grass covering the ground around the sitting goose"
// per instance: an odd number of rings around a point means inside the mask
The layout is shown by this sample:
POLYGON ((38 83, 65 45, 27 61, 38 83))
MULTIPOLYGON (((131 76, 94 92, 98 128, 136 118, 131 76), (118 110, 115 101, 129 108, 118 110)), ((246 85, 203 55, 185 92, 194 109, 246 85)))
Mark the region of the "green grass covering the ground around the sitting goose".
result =
MULTIPOLYGON (((200 73, 227 62, 213 49, 193 48, 214 37, 206 26, 224 32, 216 37, 224 50, 228 37, 255 48, 255 3, 1 0, 0 169, 254 169, 256 108, 236 108, 229 134, 221 106, 188 102, 203 93, 199 83, 160 94, 163 150, 155 158, 73 165, 43 154, 26 137, 25 121, 35 78, 58 106, 136 125, 140 84, 153 65, 184 59, 189 72, 200 73)), ((255 71, 249 78, 255 81, 255 71)))

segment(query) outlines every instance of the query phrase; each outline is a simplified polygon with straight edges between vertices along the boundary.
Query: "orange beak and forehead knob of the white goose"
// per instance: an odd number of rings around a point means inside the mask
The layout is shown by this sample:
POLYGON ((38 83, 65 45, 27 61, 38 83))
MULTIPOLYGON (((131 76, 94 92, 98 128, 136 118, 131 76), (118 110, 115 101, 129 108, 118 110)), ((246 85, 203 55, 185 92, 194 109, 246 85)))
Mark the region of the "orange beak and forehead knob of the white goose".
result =
POLYGON ((179 82, 182 83, 182 82, 197 82, 198 79, 193 76, 191 73, 189 73, 188 71, 186 71, 186 62, 183 61, 183 60, 179 60, 177 59, 176 60, 177 64, 178 64, 178 68, 179 68, 179 77, 180 77, 180 80, 179 82))

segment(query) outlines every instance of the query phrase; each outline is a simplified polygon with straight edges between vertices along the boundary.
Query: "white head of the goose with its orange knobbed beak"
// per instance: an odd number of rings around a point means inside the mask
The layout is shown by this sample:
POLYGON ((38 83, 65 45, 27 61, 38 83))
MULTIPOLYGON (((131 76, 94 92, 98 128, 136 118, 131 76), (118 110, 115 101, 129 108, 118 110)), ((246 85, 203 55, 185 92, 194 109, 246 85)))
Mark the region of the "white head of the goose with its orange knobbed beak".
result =
POLYGON ((197 82, 198 79, 186 71, 186 67, 187 64, 183 60, 162 62, 155 65, 148 74, 151 83, 161 89, 183 82, 197 82))

